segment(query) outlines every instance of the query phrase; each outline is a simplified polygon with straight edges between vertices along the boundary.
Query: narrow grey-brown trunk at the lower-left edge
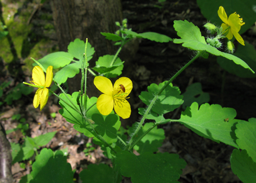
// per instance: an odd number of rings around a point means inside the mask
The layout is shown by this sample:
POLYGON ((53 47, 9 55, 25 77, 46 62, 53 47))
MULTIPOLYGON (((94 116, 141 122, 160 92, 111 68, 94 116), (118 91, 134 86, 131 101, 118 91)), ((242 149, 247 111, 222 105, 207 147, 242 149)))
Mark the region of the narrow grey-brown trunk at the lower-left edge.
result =
POLYGON ((14 183, 12 178, 11 146, 6 138, 5 129, 0 122, 0 183, 14 183))

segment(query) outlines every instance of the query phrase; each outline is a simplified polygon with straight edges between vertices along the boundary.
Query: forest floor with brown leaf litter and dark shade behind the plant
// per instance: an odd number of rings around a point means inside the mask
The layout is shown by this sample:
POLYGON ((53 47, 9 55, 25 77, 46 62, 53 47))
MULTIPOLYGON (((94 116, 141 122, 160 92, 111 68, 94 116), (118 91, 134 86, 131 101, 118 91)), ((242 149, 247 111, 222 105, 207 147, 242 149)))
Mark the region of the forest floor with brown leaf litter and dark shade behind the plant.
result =
MULTIPOLYGON (((52 19, 50 18, 49 3, 46 2, 37 7, 35 2, 22 2, 27 4, 17 11, 17 16, 26 9, 37 8, 29 23, 32 28, 26 35, 32 42, 29 44, 30 48, 35 48, 42 40, 46 40, 40 44, 42 47, 38 47, 38 49, 44 49, 35 58, 38 59, 51 51, 56 51, 58 46, 52 19), (46 21, 41 20, 43 15, 47 15, 46 21), (37 32, 36 35, 33 32, 37 32)), ((11 5, 7 0, 5 3, 11 5)), ((163 3, 158 3, 156 0, 122 0, 122 6, 123 18, 128 19, 129 28, 132 28, 135 32, 152 31, 177 38, 173 29, 174 20, 191 21, 202 32, 204 32, 202 26, 207 22, 201 15, 196 0, 166 1, 163 3)), ((256 48, 255 35, 252 35, 251 31, 245 32, 243 38, 256 48), (254 39, 251 39, 251 37, 254 39)), ((130 120, 124 121, 123 127, 132 125, 132 121, 136 121, 140 117, 137 114, 137 108, 143 107, 142 102, 138 102, 140 101, 138 98, 140 92, 147 90, 147 86, 151 83, 159 84, 170 78, 177 72, 180 65, 184 65, 194 54, 181 45, 174 45, 173 43, 160 44, 149 40, 137 41, 139 47, 130 58, 128 67, 125 65, 123 70, 123 75, 130 77, 134 83, 132 93, 134 99, 131 102, 132 116, 130 120)), ((30 52, 26 53, 21 60, 27 63, 25 61, 28 56, 31 56, 30 52)), ((5 60, 3 61, 5 62, 5 60)), ((25 81, 29 81, 31 78, 31 70, 29 71, 31 68, 26 69, 25 81)), ((12 81, 11 87, 17 84, 16 80, 11 78, 7 71, 2 73, 5 74, 0 75, 1 82, 12 81)), ((196 60, 173 81, 173 85, 178 86, 181 93, 184 93, 191 83, 200 82, 203 91, 210 94, 210 104, 220 104, 222 107, 234 108, 237 111, 236 118, 248 120, 256 117, 255 81, 256 79, 243 79, 225 72, 216 63, 216 58, 210 57, 207 60, 203 58, 196 60), (224 81, 224 92, 221 92, 224 81)), ((57 131, 55 137, 45 147, 53 150, 67 148, 69 153, 68 162, 72 169, 76 169, 76 176, 88 164, 102 162, 111 164, 111 161, 104 157, 101 149, 94 144, 91 144, 90 147, 95 147, 95 150, 89 151, 89 155, 85 156, 84 150, 90 148, 86 147, 86 144, 92 143, 92 139, 78 133, 73 129, 71 123, 66 122, 65 118, 58 112, 60 106, 56 98, 50 96, 42 111, 34 109, 32 101, 33 94, 23 96, 21 100, 13 101, 12 105, 4 104, 1 106, 0 120, 4 124, 5 130, 17 127, 19 121, 14 120, 12 116, 21 114, 21 117, 26 118, 26 123, 29 124, 27 134, 30 137, 57 131), (50 115, 53 113, 56 116, 52 117, 50 115)), ((181 111, 183 109, 178 108, 168 115, 171 116, 170 118, 177 119, 181 111)), ((180 158, 187 162, 187 166, 183 169, 183 174, 178 180, 180 183, 242 183, 233 174, 230 167, 230 155, 234 149, 233 147, 200 137, 180 123, 169 123, 161 127, 165 130, 166 139, 163 146, 159 148, 159 152, 178 153, 180 158)), ((23 143, 23 137, 20 130, 7 135, 9 141, 15 143, 23 143)), ((12 167, 12 173, 17 183, 22 176, 29 174, 31 171, 30 162, 24 161, 24 163, 25 169, 21 168, 19 163, 15 163, 12 167)), ((76 178, 78 180, 78 176, 76 178)), ((123 182, 129 183, 129 178, 125 178, 123 182)))

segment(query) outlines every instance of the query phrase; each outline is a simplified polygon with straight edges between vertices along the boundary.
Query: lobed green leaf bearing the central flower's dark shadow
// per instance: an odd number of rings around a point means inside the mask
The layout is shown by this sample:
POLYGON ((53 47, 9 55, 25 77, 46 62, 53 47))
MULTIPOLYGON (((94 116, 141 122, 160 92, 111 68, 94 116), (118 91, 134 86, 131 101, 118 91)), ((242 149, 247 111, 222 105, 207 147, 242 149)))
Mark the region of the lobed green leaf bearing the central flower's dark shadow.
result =
MULTIPOLYGON (((64 94, 59 95, 62 98, 66 98, 64 94)), ((74 92, 71 95, 68 94, 68 97, 73 101, 74 104, 76 104, 76 98, 78 96, 78 92, 74 92)), ((66 100, 68 101, 68 100, 66 100)), ((91 107, 92 104, 95 104, 97 101, 96 97, 91 97, 90 99, 87 99, 87 109, 91 107)), ((69 102, 70 103, 70 102, 69 102)), ((78 132, 82 132, 85 134, 87 137, 95 137, 93 139, 95 144, 102 145, 101 141, 97 139, 97 134, 95 133, 94 130, 92 130, 91 126, 88 124, 88 122, 85 122, 83 120, 81 114, 78 112, 74 111, 69 107, 67 104, 62 102, 62 100, 59 101, 59 104, 64 108, 60 109, 59 113, 62 114, 64 118, 69 123, 73 123, 74 129, 77 130, 78 132)), ((76 104, 78 107, 78 105, 76 104)), ((79 108, 79 107, 78 107, 79 108)), ((87 113, 86 117, 90 120, 93 120, 95 123, 93 124, 97 132, 99 132, 100 135, 107 141, 108 144, 112 144, 113 142, 116 142, 116 132, 121 126, 121 122, 119 120, 119 116, 114 114, 114 111, 111 112, 111 114, 107 116, 103 116, 100 114, 98 111, 96 105, 94 105, 87 113)))

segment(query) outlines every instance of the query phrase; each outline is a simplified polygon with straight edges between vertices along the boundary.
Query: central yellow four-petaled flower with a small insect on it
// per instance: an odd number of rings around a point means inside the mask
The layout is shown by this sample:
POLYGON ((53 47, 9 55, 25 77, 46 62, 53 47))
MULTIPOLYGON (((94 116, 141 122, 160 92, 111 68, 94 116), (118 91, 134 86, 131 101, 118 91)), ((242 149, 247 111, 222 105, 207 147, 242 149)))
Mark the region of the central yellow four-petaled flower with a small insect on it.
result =
POLYGON ((133 82, 127 77, 121 77, 114 83, 103 76, 96 76, 94 85, 103 94, 97 100, 97 109, 102 115, 108 115, 114 110, 118 116, 123 119, 129 118, 131 114, 130 104, 126 100, 131 90, 133 89, 133 82))

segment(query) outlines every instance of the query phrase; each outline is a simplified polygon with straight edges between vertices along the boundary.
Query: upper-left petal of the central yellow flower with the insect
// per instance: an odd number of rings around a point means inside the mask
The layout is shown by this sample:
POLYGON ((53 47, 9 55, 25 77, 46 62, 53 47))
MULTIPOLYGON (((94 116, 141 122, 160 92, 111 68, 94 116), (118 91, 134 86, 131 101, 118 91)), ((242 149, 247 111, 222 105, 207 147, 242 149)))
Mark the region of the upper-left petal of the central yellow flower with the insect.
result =
POLYGON ((106 77, 103 77, 103 76, 96 76, 94 78, 93 83, 96 86, 96 88, 98 88, 98 90, 100 90, 102 93, 105 93, 107 95, 112 96, 112 94, 113 94, 113 85, 112 85, 110 79, 108 79, 106 77))

